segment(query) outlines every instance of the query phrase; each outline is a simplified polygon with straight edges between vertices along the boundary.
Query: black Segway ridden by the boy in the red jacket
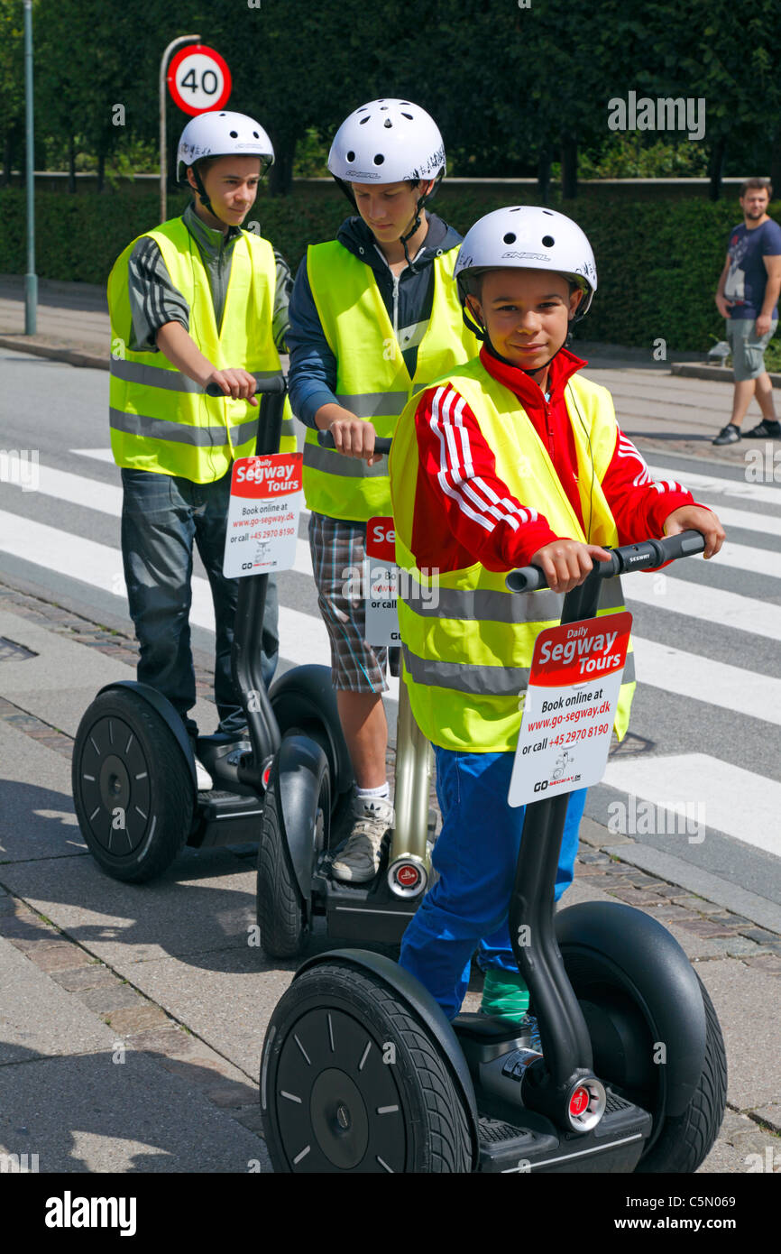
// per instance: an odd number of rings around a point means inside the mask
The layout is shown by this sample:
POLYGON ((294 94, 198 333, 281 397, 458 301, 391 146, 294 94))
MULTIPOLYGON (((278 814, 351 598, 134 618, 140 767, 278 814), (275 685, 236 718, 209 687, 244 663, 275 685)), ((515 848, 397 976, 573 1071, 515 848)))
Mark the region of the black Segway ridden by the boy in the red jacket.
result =
MULTIPOLYGON (((696 532, 627 545, 564 598, 592 618, 600 581, 702 552, 696 532)), ((529 567, 511 589, 545 587, 529 567)), ((387 958, 305 962, 275 1009, 261 1107, 282 1172, 692 1172, 726 1102, 708 994, 649 915, 619 903, 554 917, 567 795, 527 806, 509 930, 529 1028, 453 1023, 387 958), (520 944, 524 928, 527 944, 520 944)))

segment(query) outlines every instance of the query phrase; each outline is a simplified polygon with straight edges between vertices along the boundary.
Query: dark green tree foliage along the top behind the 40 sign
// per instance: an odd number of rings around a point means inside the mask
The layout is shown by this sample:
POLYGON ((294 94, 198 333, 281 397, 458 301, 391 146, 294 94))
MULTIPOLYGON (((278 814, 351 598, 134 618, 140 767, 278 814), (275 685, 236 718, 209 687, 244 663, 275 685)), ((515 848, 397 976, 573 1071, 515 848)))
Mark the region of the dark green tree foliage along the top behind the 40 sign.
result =
MULTIPOLYGON (((18 162, 21 11, 21 0, 0 0, 0 140, 18 162)), ((631 166, 632 150, 644 168, 642 153, 662 137, 608 128, 608 102, 629 92, 706 100, 703 140, 663 137, 671 169, 701 169, 705 153, 715 192, 723 169, 745 173, 747 161, 781 173, 778 0, 179 0, 150 14, 140 0, 35 0, 36 133, 71 161, 75 149, 127 162, 132 145, 155 143, 160 55, 197 31, 231 66, 228 108, 273 139, 277 193, 290 189, 300 148, 311 166, 313 134, 327 148, 347 113, 377 95, 429 109, 461 176, 539 173, 544 188, 558 162, 572 196, 583 154, 588 173, 631 166)), ((170 100, 167 110, 173 167, 187 117, 170 100)))

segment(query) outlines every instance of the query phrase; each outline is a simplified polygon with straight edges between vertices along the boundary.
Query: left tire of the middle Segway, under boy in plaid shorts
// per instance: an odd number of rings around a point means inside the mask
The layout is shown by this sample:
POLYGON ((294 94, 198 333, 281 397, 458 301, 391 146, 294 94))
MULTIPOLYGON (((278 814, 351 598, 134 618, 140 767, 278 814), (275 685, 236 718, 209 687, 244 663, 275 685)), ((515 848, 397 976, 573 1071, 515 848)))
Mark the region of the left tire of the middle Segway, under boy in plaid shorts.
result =
MULTIPOLYGON (((322 844, 326 839, 330 809, 328 767, 323 765, 318 781, 317 815, 312 816, 315 844, 322 844)), ((261 929, 261 946, 268 958, 295 958, 306 946, 311 920, 287 850, 277 776, 273 771, 263 800, 257 868, 256 917, 261 929)))

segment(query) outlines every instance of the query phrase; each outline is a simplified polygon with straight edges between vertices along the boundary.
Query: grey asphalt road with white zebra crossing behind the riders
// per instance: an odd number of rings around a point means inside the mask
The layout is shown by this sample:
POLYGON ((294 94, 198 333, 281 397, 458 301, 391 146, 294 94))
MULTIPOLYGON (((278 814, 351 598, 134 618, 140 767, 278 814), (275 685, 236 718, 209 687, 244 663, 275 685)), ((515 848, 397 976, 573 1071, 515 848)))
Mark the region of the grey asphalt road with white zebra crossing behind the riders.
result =
MULTIPOLYGON (((0 487, 0 571, 127 631, 122 493, 105 441, 108 377, 4 350, 0 355, 6 451, 31 443, 33 413, 40 449, 38 466, 29 466, 38 490, 25 490, 21 482, 0 487)), ((593 374, 609 380, 618 398, 614 371, 593 374)), ((639 371, 628 374, 637 389, 639 371)), ((671 382, 676 395, 691 391, 695 398, 707 386, 671 382)), ((629 384, 624 381, 624 391, 629 384)), ((658 477, 691 485, 717 509, 728 542, 712 563, 688 559, 666 574, 627 581, 641 682, 632 734, 613 757, 605 784, 592 790, 588 813, 686 863, 692 874, 700 869, 718 877, 725 904, 738 885, 773 903, 781 920, 781 830, 775 821, 781 811, 781 489, 747 483, 738 465, 708 466, 658 453, 651 460, 658 477), (631 795, 644 806, 638 810, 636 803, 632 810, 631 795)), ((14 469, 13 461, 8 465, 6 478, 14 469)), ((295 569, 280 577, 280 601, 282 666, 327 657, 306 518, 295 569)), ((207 661, 213 614, 199 567, 192 621, 194 643, 207 661)), ((392 719, 397 681, 391 683, 392 719)), ((711 884, 706 895, 715 899, 717 888, 711 884)), ((746 899, 741 913, 752 905, 762 910, 746 899)))

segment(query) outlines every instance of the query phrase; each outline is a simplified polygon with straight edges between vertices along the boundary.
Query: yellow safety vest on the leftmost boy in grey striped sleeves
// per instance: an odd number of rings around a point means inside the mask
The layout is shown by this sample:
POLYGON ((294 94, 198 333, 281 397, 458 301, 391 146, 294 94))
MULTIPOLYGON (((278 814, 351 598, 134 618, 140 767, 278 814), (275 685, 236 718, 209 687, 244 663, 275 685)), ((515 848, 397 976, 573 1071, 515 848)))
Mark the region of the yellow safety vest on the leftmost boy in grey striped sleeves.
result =
MULTIPOLYGON (((272 336, 276 265, 267 240, 242 232, 233 246, 222 326, 217 329, 208 275, 182 218, 145 232, 159 246, 172 283, 189 305, 189 334, 217 370, 242 366, 258 381, 282 372, 272 336)), ((140 236, 138 237, 142 238, 140 236)), ((132 352, 128 261, 124 250, 109 275, 112 319, 110 428, 119 466, 181 475, 193 483, 221 479, 236 458, 254 453, 258 411, 244 400, 206 396, 162 352, 132 352)), ((281 451, 293 453, 286 400, 281 451)))

